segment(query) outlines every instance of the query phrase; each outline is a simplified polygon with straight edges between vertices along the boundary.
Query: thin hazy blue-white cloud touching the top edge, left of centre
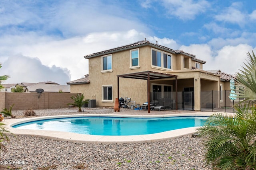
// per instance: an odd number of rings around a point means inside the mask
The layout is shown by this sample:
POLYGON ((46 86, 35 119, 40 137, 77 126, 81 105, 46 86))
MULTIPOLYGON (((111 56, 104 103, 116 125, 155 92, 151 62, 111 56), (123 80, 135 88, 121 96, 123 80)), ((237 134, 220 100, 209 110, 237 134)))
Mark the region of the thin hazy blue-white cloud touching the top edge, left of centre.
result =
POLYGON ((65 1, 54 10, 50 27, 60 30, 65 37, 86 35, 92 32, 150 31, 134 13, 116 4, 100 1, 65 1))

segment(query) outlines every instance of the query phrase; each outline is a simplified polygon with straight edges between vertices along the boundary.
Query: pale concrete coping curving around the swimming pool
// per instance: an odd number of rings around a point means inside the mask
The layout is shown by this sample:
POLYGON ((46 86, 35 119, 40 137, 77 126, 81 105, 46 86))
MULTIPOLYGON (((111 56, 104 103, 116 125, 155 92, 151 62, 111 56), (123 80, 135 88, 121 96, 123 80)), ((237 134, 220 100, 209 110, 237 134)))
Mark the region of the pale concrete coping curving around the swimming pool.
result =
POLYGON ((188 127, 183 129, 165 131, 148 135, 128 135, 128 136, 102 136, 102 135, 84 135, 71 132, 47 131, 47 130, 31 130, 16 129, 12 126, 26 123, 28 121, 37 121, 42 119, 55 119, 66 117, 130 117, 130 118, 162 118, 162 117, 178 117, 178 116, 210 116, 213 112, 196 112, 196 113, 179 113, 164 115, 120 115, 120 114, 76 114, 76 115, 54 115, 42 116, 22 119, 4 119, 2 123, 6 124, 8 131, 15 135, 31 135, 35 137, 44 137, 47 139, 55 139, 60 141, 70 141, 77 143, 148 143, 154 141, 162 141, 170 138, 180 137, 192 133, 196 133, 198 127, 188 127))

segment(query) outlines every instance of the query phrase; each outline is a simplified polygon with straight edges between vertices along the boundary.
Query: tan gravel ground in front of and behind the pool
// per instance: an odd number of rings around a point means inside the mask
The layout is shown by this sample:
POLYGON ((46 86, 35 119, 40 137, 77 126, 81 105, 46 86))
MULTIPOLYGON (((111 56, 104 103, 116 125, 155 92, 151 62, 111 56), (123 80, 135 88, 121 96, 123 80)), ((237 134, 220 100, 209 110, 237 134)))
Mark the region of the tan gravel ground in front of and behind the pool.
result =
MULTIPOLYGON (((77 108, 34 110, 37 116, 78 114, 77 108)), ((113 113, 110 108, 84 108, 85 113, 113 113)), ((23 111, 12 111, 24 118, 23 111)), ((8 117, 6 117, 8 119, 8 117)), ((1 152, 0 169, 21 170, 210 170, 202 139, 186 135, 165 141, 89 144, 27 135, 10 136, 1 152)))

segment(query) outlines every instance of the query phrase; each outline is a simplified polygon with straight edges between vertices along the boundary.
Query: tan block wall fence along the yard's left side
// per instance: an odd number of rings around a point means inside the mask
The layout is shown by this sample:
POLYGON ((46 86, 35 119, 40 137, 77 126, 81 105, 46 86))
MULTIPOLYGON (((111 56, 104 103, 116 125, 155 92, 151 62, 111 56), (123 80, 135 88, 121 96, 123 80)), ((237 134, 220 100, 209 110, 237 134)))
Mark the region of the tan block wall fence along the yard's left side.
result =
POLYGON ((0 110, 9 109, 12 104, 12 110, 25 109, 57 109, 69 107, 68 103, 73 103, 71 96, 77 93, 48 93, 40 95, 36 92, 31 93, 8 93, 0 92, 0 110), (39 97, 39 98, 38 98, 39 97))

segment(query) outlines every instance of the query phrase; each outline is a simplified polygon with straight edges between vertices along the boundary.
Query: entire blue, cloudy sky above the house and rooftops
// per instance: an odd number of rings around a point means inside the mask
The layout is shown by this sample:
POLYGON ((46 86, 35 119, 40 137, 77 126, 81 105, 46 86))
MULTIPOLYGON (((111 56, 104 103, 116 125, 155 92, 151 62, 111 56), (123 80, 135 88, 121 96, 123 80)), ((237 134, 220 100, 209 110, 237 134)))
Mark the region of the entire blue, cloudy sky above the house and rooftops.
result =
POLYGON ((255 0, 0 0, 0 75, 66 84, 88 74, 85 55, 145 38, 236 74, 255 23, 255 0))

